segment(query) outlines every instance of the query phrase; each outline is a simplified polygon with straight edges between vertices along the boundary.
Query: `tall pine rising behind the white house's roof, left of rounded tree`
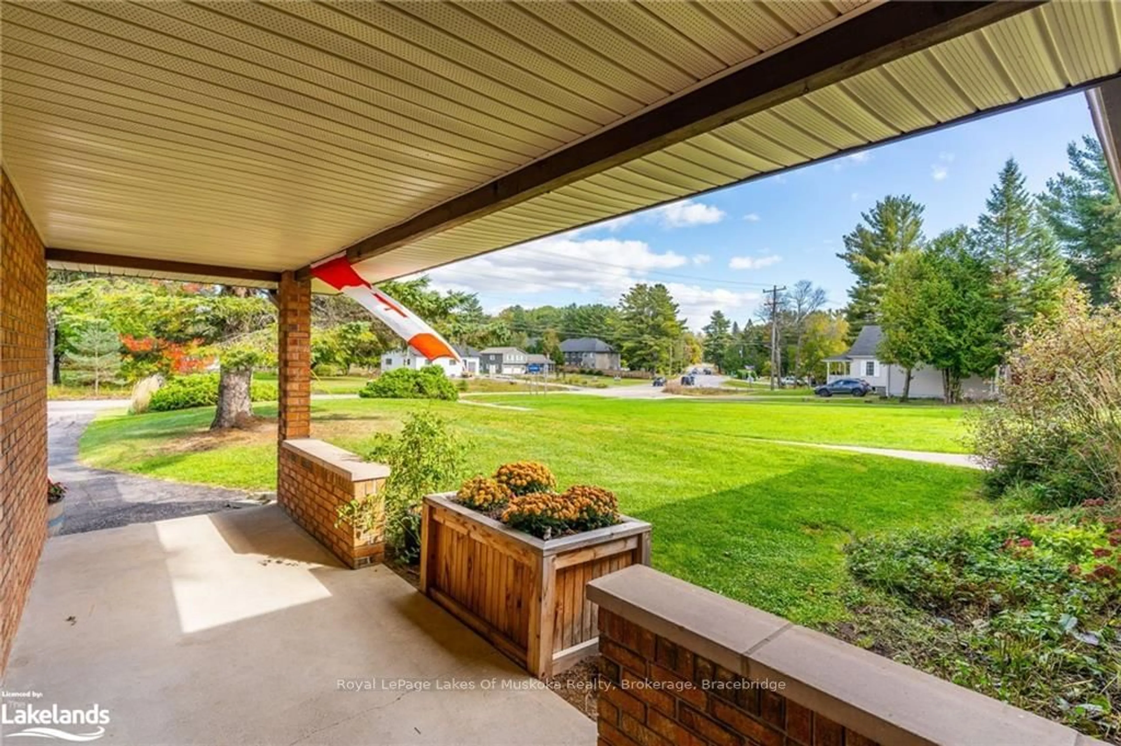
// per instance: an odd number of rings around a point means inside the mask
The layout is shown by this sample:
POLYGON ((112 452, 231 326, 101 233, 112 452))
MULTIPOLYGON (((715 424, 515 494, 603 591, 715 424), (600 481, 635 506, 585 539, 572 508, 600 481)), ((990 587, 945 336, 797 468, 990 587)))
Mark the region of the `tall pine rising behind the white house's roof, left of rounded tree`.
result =
POLYGON ((886 196, 870 212, 861 214, 861 224, 844 237, 845 250, 837 255, 856 276, 849 289, 849 334, 874 323, 883 293, 884 273, 891 257, 923 246, 923 205, 909 196, 886 196))

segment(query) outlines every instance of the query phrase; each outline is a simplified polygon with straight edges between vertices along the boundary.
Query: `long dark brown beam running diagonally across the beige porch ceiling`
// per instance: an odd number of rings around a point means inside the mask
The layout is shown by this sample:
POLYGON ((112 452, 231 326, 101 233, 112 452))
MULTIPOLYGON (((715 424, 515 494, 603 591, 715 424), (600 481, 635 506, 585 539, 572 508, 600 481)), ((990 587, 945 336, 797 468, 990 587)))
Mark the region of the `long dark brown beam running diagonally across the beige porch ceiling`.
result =
POLYGON ((892 0, 346 248, 369 259, 1041 4, 892 0))

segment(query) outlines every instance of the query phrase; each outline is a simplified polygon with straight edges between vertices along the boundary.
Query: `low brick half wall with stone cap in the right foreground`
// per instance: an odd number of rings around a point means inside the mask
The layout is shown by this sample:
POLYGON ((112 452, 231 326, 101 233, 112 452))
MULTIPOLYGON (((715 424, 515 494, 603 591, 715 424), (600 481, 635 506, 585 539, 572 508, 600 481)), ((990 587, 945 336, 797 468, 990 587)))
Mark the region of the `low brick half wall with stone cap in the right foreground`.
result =
POLYGON ((1105 746, 643 565, 587 598, 601 746, 1105 746))

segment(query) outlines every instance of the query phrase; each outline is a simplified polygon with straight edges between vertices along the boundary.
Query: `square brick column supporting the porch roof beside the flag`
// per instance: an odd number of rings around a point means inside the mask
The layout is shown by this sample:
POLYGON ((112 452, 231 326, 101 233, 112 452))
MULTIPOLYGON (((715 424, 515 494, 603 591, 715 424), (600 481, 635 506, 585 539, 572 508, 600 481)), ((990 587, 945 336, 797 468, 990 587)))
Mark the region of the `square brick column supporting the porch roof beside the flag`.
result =
POLYGON ((312 280, 280 276, 277 436, 280 442, 312 434, 312 280))

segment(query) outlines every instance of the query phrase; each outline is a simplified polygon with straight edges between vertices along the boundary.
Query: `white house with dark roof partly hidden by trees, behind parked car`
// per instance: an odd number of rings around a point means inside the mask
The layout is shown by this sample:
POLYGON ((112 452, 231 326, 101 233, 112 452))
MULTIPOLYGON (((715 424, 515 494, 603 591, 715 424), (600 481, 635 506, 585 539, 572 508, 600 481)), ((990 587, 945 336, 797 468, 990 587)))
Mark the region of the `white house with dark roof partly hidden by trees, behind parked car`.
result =
MULTIPOLYGON (((867 380, 880 395, 901 396, 907 371, 900 366, 881 362, 877 348, 883 339, 883 330, 870 324, 860 330, 856 341, 844 354, 825 359, 826 383, 841 378, 867 380)), ((919 366, 911 371, 911 398, 942 398, 942 372, 929 366, 919 366)), ((962 381, 963 399, 988 399, 994 396, 991 378, 971 376, 962 381)))

